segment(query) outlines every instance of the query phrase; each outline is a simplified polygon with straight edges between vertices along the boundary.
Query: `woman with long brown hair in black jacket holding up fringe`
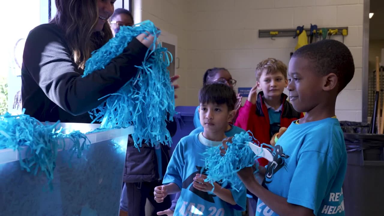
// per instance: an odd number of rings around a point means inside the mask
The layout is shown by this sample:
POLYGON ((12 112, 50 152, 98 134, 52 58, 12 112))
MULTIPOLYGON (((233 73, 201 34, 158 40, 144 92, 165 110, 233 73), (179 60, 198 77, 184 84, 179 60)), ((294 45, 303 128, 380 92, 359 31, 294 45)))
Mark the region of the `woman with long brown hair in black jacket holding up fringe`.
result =
POLYGON ((56 0, 50 23, 29 33, 23 53, 22 101, 25 114, 40 121, 90 123, 88 111, 132 77, 153 35, 142 33, 104 69, 81 77, 94 50, 113 37, 108 18, 116 0, 56 0))

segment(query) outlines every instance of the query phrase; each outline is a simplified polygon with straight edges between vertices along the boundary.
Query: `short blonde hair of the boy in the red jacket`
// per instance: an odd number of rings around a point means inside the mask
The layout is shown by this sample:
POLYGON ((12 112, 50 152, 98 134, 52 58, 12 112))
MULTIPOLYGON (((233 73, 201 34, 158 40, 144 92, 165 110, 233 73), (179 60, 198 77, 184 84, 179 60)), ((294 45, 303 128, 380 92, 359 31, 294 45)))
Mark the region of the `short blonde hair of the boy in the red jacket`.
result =
POLYGON ((260 76, 262 76, 264 71, 266 74, 281 72, 284 78, 288 80, 287 66, 276 58, 267 58, 257 64, 255 71, 256 81, 260 81, 260 76))

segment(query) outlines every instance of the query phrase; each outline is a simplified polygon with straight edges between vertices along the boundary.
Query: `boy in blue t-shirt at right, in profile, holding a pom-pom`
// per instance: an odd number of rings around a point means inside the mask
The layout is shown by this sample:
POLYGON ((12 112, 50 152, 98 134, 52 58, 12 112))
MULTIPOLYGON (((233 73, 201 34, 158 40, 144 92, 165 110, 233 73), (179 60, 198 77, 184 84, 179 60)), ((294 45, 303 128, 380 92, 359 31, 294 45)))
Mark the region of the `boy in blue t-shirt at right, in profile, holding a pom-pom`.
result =
MULTIPOLYGON (((344 216, 347 168, 344 135, 335 116, 337 95, 352 80, 349 49, 336 40, 305 45, 289 63, 290 101, 306 112, 279 138, 262 184, 252 168, 238 172, 258 198, 256 216, 344 216)), ((226 146, 224 146, 226 147, 226 146)))

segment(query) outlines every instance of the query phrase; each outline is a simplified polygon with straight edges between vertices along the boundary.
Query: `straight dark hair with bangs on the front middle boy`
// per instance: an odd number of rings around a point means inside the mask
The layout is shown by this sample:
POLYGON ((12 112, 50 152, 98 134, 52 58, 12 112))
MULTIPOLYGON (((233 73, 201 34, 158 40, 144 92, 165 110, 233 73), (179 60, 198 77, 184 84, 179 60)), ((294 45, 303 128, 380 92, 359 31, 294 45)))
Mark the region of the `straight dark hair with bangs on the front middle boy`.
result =
POLYGON ((225 103, 228 106, 228 111, 232 111, 235 109, 236 101, 235 91, 222 83, 204 85, 199 91, 200 104, 214 103, 222 105, 225 103))

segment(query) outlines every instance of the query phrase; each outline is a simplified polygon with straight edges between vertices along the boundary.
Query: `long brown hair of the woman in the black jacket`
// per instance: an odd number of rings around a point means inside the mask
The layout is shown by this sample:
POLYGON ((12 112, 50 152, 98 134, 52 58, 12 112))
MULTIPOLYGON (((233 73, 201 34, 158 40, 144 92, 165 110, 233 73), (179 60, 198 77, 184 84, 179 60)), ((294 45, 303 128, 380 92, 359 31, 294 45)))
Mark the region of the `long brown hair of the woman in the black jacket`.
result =
POLYGON ((55 0, 57 12, 51 22, 64 32, 73 60, 84 70, 91 52, 113 37, 109 22, 101 32, 93 32, 99 18, 98 0, 55 0))

